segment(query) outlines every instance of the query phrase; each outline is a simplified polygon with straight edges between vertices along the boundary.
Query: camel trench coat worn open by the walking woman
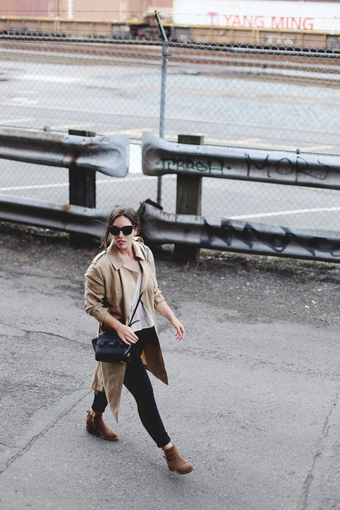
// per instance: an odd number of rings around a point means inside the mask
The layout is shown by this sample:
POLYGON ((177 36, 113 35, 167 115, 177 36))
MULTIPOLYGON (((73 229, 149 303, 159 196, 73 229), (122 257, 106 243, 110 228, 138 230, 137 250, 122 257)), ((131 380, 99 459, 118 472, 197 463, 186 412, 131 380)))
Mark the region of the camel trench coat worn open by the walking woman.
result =
MULTIPOLYGON (((154 321, 153 335, 145 343, 142 361, 147 370, 168 384, 154 312, 164 297, 158 288, 151 250, 144 245, 141 237, 134 238, 133 248, 142 268, 141 292, 144 292, 141 300, 154 321)), ((111 242, 106 250, 93 259, 85 273, 85 311, 99 322, 98 333, 100 327, 105 333, 112 333, 112 329, 103 324, 108 311, 123 324, 128 324, 138 274, 123 267, 124 264, 125 259, 118 247, 111 242)), ((124 363, 97 362, 91 384, 95 394, 98 391, 106 392, 117 422, 124 374, 124 363)))

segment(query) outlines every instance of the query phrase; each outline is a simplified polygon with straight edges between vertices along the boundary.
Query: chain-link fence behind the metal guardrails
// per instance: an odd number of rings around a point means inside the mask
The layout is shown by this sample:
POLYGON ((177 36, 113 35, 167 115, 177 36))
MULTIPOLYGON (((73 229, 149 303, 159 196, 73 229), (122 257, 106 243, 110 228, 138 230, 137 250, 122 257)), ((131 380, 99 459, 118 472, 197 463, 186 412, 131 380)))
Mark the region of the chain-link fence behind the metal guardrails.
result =
MULTIPOLYGON (((170 42, 164 138, 338 155, 339 58, 336 49, 170 42)), ((156 200, 157 179, 141 170, 141 135, 159 134, 162 42, 0 32, 0 62, 0 125, 127 134, 129 174, 97 173, 97 207, 156 200)), ((67 203, 68 171, 1 160, 0 193, 67 203)), ((175 200, 176 177, 166 175, 164 210, 174 212, 175 200)), ((339 206, 336 190, 203 179, 204 216, 339 231, 339 206)))

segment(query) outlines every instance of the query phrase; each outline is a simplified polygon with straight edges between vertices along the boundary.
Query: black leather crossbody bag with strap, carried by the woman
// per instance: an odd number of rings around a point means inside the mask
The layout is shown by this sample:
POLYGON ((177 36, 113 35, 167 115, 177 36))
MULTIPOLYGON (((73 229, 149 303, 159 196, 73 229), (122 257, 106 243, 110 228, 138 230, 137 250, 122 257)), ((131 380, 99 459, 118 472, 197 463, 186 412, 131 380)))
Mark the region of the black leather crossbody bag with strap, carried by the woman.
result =
MULTIPOLYGON (((144 292, 144 291, 143 291, 144 292)), ((142 292, 142 294, 143 294, 142 292)), ((139 296, 134 313, 132 314, 129 326, 133 324, 133 319, 142 299, 142 294, 139 296)), ((128 363, 130 361, 130 348, 133 344, 125 344, 118 336, 117 331, 111 335, 100 333, 98 338, 92 339, 92 345, 95 352, 95 359, 106 363, 128 363)))

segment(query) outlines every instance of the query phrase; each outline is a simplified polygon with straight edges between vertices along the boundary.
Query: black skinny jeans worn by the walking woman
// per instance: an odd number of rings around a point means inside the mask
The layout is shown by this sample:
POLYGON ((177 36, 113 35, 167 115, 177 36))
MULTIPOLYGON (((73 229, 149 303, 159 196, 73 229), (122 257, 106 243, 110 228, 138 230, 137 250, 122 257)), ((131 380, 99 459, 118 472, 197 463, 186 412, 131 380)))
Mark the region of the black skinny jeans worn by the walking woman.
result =
MULTIPOLYGON (((162 419, 157 409, 153 396, 151 381, 141 360, 141 353, 144 350, 145 339, 148 329, 136 331, 138 342, 130 348, 130 361, 126 363, 123 384, 134 396, 137 402, 139 417, 147 432, 159 448, 170 443, 170 438, 164 428, 162 419)), ((103 413, 108 405, 108 399, 104 391, 95 395, 92 409, 96 413, 103 413)))

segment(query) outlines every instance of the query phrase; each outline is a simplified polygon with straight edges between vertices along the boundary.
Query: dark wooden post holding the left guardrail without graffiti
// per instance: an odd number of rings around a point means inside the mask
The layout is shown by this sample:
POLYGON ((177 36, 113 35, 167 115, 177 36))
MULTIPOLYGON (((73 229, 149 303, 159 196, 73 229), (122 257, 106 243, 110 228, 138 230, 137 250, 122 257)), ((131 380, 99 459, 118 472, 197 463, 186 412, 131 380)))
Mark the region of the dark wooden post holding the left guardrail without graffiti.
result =
MULTIPOLYGON (((69 135, 95 136, 89 131, 68 130, 69 135)), ((96 172, 95 170, 83 170, 76 166, 77 154, 74 154, 68 170, 69 179, 69 203, 74 206, 83 206, 95 209, 96 207, 96 172)), ((90 237, 85 234, 71 232, 70 244, 72 246, 84 246, 88 244, 90 237)))

